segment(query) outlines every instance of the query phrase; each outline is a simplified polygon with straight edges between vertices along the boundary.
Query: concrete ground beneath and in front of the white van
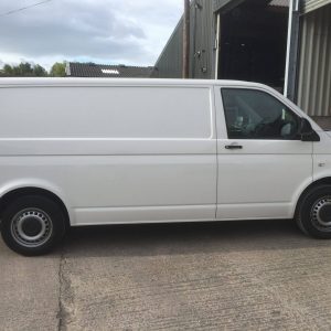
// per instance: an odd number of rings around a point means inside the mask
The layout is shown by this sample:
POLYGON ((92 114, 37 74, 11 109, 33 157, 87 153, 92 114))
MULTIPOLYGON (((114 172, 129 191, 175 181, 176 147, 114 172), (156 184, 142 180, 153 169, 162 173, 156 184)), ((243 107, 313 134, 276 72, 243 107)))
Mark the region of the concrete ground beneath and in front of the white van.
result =
POLYGON ((1 330, 330 330, 331 242, 291 221, 73 229, 0 241, 1 330))

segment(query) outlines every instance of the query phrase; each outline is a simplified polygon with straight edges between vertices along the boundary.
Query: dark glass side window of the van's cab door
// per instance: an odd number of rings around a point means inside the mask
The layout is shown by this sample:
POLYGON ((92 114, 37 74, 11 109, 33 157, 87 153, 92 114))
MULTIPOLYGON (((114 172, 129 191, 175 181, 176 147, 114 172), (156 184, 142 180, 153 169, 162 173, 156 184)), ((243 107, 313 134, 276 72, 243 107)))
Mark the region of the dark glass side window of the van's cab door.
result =
POLYGON ((299 140, 299 117, 267 93, 222 88, 229 139, 299 140))

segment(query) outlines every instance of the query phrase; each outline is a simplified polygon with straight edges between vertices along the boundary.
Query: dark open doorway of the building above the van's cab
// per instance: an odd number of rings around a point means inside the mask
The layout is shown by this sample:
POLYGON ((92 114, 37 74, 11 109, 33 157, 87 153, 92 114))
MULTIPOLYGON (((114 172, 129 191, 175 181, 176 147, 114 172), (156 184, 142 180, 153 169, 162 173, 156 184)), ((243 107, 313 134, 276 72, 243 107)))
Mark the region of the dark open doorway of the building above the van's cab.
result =
POLYGON ((246 0, 221 13, 220 79, 259 82, 282 92, 288 0, 246 0))

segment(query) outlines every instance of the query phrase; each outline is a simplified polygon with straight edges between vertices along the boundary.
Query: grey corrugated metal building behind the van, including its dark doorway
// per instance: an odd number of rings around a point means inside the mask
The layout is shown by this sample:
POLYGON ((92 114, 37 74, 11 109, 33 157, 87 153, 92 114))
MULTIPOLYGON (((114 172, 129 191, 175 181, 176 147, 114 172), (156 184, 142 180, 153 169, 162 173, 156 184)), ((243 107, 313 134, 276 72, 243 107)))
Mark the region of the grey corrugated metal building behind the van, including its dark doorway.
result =
MULTIPOLYGON (((260 82, 331 129, 331 0, 191 1, 190 76, 260 82)), ((181 77, 182 19, 158 77, 181 77)))

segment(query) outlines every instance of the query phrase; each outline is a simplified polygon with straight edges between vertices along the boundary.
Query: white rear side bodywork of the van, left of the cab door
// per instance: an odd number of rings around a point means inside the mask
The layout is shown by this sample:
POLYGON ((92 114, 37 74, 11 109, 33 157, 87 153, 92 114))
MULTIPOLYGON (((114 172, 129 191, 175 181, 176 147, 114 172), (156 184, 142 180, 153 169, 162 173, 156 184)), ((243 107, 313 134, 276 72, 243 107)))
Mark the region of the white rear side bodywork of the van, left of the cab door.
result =
POLYGON ((50 182, 73 225, 214 220, 212 100, 207 86, 0 88, 0 192, 50 182))

